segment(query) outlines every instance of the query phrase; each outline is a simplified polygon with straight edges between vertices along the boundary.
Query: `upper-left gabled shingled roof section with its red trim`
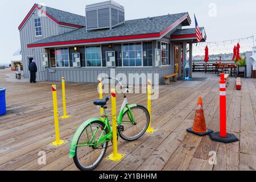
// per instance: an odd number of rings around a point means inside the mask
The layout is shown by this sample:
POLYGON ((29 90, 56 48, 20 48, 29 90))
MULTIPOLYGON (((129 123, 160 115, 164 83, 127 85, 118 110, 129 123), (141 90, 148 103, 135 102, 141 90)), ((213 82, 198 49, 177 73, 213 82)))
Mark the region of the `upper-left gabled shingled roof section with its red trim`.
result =
POLYGON ((86 26, 86 19, 85 16, 68 13, 66 11, 61 11, 57 9, 53 9, 52 7, 43 6, 41 7, 38 4, 35 4, 27 16, 24 18, 22 23, 19 26, 19 30, 23 27, 23 25, 27 22, 27 19, 30 15, 34 12, 35 9, 42 11, 45 15, 51 18, 57 24, 62 24, 65 26, 73 26, 77 28, 85 27, 86 26))

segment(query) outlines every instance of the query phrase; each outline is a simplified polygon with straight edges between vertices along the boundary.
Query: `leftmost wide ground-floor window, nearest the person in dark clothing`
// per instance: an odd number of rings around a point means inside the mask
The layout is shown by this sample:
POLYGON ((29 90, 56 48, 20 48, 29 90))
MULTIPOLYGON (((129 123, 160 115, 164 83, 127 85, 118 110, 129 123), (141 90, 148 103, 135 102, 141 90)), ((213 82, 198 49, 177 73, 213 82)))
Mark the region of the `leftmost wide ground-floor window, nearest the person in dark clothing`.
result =
POLYGON ((55 49, 57 67, 69 67, 68 48, 55 49))

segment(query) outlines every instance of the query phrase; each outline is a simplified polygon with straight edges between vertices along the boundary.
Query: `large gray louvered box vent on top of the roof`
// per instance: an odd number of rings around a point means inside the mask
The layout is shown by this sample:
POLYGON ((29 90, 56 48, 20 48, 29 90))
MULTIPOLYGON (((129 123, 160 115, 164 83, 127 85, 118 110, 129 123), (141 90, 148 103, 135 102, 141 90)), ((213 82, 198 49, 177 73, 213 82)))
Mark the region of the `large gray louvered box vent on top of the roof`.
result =
POLYGON ((87 30, 110 28, 125 22, 125 9, 114 1, 87 5, 85 8, 87 30))

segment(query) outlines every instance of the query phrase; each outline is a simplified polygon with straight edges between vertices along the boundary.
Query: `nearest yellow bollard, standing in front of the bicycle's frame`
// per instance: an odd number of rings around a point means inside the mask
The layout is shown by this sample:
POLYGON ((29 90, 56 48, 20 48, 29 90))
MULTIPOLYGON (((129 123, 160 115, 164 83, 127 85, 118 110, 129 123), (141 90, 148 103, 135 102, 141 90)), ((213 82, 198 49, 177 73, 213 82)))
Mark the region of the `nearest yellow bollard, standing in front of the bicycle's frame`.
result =
POLYGON ((109 160, 119 162, 125 155, 118 154, 117 151, 117 101, 115 98, 115 89, 111 90, 112 95, 112 130, 113 130, 113 154, 108 156, 109 160))

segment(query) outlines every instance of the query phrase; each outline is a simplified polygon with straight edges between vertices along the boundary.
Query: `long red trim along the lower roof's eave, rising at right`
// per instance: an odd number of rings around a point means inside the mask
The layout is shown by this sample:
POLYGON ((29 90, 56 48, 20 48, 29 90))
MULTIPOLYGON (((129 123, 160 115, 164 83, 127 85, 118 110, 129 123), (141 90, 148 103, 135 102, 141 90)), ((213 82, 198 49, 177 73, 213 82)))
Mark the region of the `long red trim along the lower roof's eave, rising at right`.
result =
POLYGON ((145 39, 145 38, 160 38, 165 35, 172 28, 176 27, 178 24, 182 23, 186 18, 188 18, 188 14, 182 16, 175 23, 171 24, 171 26, 167 27, 164 31, 155 34, 142 34, 142 35, 128 35, 128 36, 118 36, 112 38, 97 38, 97 39, 86 39, 86 40, 71 40, 66 42, 53 42, 53 43, 43 43, 43 44, 28 44, 28 48, 32 47, 46 47, 46 46, 63 46, 67 44, 82 44, 82 43, 95 43, 95 42, 109 42, 114 40, 130 40, 130 39, 145 39))

